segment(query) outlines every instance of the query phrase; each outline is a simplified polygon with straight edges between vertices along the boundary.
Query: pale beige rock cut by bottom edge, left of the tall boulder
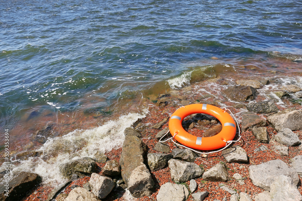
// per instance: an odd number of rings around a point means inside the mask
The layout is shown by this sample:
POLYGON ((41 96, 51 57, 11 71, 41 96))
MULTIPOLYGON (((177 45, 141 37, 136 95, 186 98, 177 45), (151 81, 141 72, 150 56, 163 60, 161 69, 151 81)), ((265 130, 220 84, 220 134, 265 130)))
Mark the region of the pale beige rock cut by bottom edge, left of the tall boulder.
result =
POLYGON ((95 194, 89 192, 88 190, 85 190, 82 187, 76 187, 64 199, 64 201, 100 201, 95 194))

